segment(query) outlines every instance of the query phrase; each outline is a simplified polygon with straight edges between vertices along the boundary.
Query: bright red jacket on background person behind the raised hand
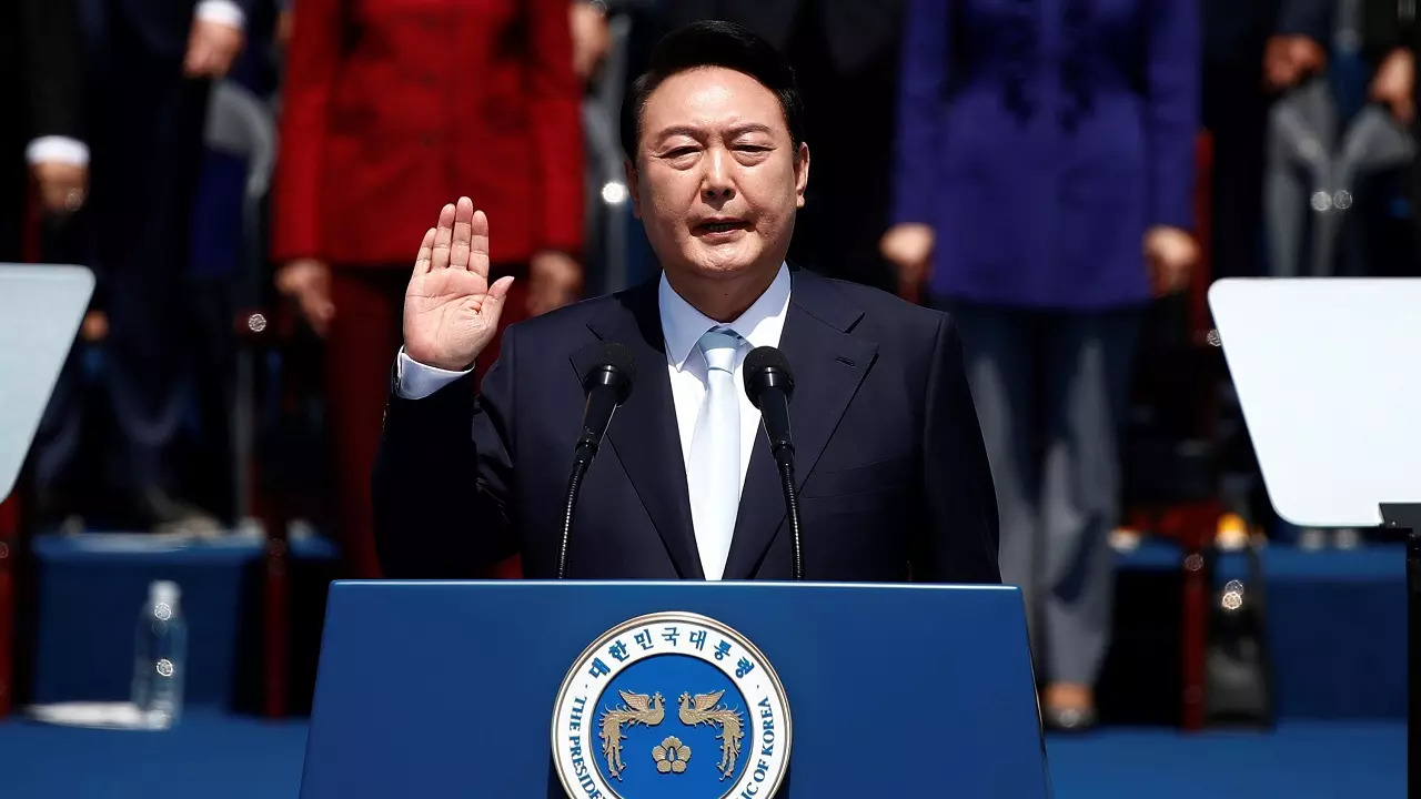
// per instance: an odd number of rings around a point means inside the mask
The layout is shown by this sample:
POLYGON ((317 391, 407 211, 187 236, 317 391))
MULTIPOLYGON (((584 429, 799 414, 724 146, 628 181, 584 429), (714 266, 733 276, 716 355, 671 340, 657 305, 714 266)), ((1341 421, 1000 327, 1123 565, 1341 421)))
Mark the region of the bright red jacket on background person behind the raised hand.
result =
POLYGON ((273 257, 414 262, 459 195, 495 262, 583 243, 567 0, 297 0, 273 257))

